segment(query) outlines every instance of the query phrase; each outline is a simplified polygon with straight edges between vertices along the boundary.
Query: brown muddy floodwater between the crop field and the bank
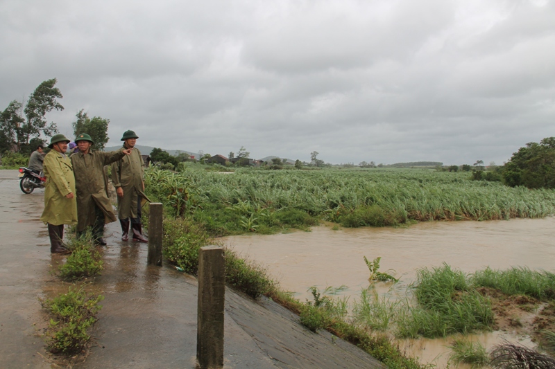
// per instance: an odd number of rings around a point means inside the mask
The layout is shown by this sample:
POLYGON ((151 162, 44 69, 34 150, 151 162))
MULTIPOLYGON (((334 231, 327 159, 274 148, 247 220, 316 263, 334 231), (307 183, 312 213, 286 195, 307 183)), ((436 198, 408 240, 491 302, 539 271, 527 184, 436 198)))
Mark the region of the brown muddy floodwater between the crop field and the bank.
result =
MULTIPOLYGON (((555 270, 555 218, 511 219, 489 222, 426 222, 408 228, 339 228, 318 226, 310 232, 278 235, 244 235, 225 239, 242 255, 268 267, 283 289, 300 300, 316 286, 348 288, 339 296, 359 296, 368 287, 368 260, 382 257, 380 271, 389 271, 400 283, 379 283, 377 291, 399 296, 416 279, 416 269, 439 267, 443 262, 465 272, 513 266, 555 270)), ((486 347, 503 339, 533 346, 529 337, 511 332, 476 336, 486 347)), ((403 341, 402 345, 422 362, 445 366, 449 339, 403 341)), ((461 366, 463 368, 463 366, 461 366)))

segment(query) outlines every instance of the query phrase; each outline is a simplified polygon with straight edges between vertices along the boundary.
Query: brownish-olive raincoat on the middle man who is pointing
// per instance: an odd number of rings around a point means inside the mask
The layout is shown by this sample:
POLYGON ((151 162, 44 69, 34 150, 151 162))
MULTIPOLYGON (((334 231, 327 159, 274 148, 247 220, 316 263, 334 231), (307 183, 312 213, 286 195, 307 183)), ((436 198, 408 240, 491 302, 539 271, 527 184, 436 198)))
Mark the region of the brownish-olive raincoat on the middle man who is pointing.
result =
POLYGON ((122 150, 111 152, 89 151, 88 154, 76 152, 71 155, 77 189, 78 232, 83 232, 87 226, 94 225, 96 219, 95 205, 104 213, 104 223, 117 220, 108 197, 108 178, 104 171, 104 165, 109 165, 123 158, 125 154, 122 150))

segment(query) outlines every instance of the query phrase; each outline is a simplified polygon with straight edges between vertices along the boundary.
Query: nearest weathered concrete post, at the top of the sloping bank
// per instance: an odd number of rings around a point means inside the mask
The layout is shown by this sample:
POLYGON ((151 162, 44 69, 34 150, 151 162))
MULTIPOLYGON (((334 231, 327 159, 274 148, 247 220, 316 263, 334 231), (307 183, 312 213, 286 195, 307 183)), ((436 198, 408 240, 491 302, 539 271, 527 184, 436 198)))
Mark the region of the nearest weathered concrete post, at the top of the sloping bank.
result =
POLYGON ((200 369, 223 368, 225 260, 219 246, 198 253, 198 327, 196 358, 200 369))

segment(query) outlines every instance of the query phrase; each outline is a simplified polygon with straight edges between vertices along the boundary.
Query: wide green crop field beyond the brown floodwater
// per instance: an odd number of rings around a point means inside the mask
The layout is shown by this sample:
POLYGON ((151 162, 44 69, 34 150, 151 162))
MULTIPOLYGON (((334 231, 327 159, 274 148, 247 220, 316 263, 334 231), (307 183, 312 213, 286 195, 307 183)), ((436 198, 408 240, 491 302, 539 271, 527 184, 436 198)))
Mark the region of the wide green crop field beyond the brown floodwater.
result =
POLYGON ((396 226, 545 217, 555 212, 555 190, 472 181, 468 172, 246 168, 224 174, 184 169, 148 170, 148 194, 174 215, 193 217, 212 235, 273 233, 320 220, 348 227, 396 226))

